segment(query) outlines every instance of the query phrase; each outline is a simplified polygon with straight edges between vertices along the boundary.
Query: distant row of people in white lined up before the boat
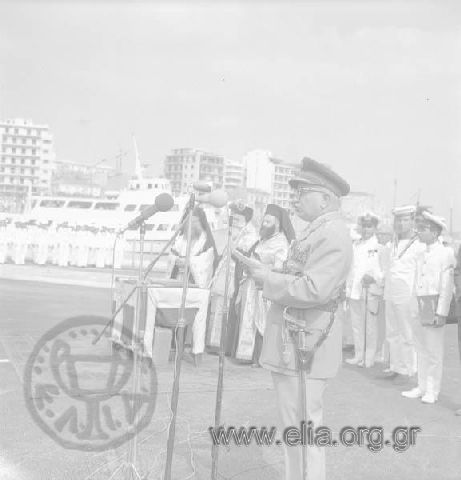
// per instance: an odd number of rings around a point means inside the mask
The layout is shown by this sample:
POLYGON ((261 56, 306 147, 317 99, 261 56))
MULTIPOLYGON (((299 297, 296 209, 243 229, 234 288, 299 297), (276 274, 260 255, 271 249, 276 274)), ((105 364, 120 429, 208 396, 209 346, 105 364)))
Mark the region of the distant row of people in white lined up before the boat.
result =
POLYGON ((91 226, 48 225, 24 222, 0 223, 0 264, 121 268, 126 242, 123 236, 113 247, 115 232, 91 226))

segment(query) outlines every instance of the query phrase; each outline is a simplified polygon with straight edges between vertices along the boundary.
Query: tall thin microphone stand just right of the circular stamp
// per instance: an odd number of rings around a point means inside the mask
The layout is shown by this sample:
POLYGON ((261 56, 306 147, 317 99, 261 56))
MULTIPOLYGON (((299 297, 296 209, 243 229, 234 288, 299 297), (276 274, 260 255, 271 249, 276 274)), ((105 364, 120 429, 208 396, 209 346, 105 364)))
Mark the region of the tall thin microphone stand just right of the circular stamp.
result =
POLYGON ((189 288, 189 269, 190 269, 190 253, 191 253, 191 237, 192 237, 192 210, 195 204, 195 194, 191 194, 190 197, 190 211, 187 216, 187 246, 186 246, 186 258, 184 264, 184 279, 181 297, 181 306, 179 308, 178 323, 175 328, 175 340, 176 340, 176 359, 174 369, 173 390, 171 394, 171 421, 168 429, 168 442, 166 451, 166 464, 165 464, 165 477, 164 480, 171 480, 171 465, 173 461, 174 439, 176 433, 176 417, 178 412, 178 399, 179 399, 179 377, 181 375, 181 364, 184 352, 184 337, 186 329, 186 298, 187 290, 189 288))

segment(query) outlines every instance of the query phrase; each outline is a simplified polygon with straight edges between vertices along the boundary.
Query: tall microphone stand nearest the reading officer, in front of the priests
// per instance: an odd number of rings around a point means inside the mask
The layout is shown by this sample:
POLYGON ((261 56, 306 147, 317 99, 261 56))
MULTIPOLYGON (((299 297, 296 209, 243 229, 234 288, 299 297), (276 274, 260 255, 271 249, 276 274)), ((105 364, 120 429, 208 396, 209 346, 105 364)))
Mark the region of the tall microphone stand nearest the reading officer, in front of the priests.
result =
MULTIPOLYGON (((227 322, 229 317, 229 283, 230 283, 230 263, 232 255, 232 223, 234 217, 229 214, 228 230, 227 230, 227 257, 226 257, 226 280, 224 283, 224 301, 221 314, 221 342, 219 346, 219 372, 218 372, 218 386, 216 389, 216 406, 215 406, 215 431, 219 428, 221 423, 221 410, 222 410, 222 396, 223 396, 223 384, 224 384, 224 360, 225 360, 225 347, 227 339, 227 322)), ((215 443, 211 447, 211 478, 217 480, 218 478, 218 461, 219 450, 218 445, 215 443)))

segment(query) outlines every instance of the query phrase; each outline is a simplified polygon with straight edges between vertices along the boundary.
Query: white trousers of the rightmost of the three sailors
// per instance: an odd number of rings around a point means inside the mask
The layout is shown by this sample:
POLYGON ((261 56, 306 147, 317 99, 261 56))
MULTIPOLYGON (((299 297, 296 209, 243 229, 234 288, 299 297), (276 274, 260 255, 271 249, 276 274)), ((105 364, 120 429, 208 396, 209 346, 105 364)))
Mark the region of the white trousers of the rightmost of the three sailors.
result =
POLYGON ((416 319, 413 332, 418 358, 418 388, 423 393, 438 395, 442 383, 445 327, 425 326, 416 319))

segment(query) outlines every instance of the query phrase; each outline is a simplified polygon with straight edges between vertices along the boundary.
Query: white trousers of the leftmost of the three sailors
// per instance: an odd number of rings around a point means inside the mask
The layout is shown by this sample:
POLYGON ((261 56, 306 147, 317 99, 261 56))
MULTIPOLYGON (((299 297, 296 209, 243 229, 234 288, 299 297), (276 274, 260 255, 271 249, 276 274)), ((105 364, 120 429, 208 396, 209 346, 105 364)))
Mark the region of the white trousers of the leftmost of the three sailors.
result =
POLYGON ((378 345, 378 312, 379 297, 368 294, 368 311, 365 311, 366 298, 349 300, 351 311, 352 333, 354 335, 355 358, 365 360, 365 365, 373 365, 378 345), (366 324, 365 324, 366 322, 366 324), (366 352, 365 349, 366 329, 366 352))

